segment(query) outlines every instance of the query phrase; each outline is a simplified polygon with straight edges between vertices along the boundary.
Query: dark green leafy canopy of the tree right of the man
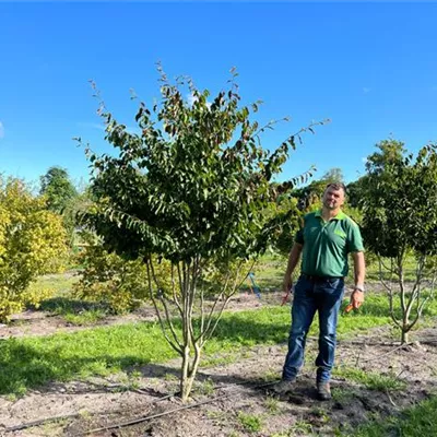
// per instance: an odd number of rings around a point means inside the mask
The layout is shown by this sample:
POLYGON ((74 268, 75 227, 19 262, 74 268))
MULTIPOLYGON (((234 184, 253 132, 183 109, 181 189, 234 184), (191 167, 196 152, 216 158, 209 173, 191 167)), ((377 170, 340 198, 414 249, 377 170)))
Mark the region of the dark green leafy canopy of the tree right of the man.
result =
POLYGON ((377 147, 363 180, 366 244, 383 257, 402 257, 409 248, 435 253, 437 147, 422 147, 416 158, 399 141, 386 140, 377 147))

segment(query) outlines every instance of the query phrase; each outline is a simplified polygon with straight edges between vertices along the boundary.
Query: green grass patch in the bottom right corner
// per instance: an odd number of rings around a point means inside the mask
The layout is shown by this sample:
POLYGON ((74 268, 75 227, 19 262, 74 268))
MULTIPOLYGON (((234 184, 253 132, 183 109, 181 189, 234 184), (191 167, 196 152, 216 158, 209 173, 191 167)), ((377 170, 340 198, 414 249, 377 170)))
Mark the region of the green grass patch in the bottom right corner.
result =
POLYGON ((385 418, 383 422, 375 421, 341 435, 345 437, 437 436, 437 397, 404 410, 399 416, 385 418))

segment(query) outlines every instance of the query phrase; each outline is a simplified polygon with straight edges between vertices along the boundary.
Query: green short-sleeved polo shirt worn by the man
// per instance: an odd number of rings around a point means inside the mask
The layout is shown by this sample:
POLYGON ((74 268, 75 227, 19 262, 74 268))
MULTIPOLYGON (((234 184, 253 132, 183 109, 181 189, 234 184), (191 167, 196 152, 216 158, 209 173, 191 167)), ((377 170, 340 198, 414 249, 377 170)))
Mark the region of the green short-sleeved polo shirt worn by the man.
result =
POLYGON ((329 222, 321 211, 305 215, 295 240, 304 245, 302 272, 316 276, 346 276, 347 255, 364 250, 358 225, 343 212, 329 222))

